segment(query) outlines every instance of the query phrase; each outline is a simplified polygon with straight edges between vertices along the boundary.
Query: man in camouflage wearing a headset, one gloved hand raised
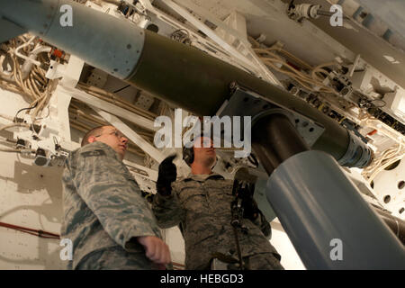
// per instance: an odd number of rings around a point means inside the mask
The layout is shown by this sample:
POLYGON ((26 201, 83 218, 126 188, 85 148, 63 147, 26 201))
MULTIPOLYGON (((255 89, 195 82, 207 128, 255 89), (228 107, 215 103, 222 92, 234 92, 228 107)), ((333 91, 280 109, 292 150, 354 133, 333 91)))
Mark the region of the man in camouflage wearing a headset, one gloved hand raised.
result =
POLYGON ((191 174, 176 180, 175 156, 159 166, 152 211, 160 228, 179 225, 185 244, 185 269, 283 269, 280 255, 266 238, 270 229, 253 198, 245 201, 238 226, 232 212, 232 180, 213 173, 216 152, 209 137, 194 139, 183 149, 191 174), (200 143, 200 145, 196 145, 200 143), (208 144, 208 145, 207 145, 208 144))

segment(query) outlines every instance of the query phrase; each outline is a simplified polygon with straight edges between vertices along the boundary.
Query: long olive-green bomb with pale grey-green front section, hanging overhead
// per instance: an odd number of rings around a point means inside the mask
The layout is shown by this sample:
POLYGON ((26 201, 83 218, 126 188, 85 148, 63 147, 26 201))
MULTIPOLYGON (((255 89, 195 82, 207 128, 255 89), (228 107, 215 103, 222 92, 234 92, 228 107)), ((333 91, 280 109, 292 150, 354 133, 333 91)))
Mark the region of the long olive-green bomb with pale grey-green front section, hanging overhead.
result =
MULTIPOLYGON (((320 123, 325 131, 313 149, 326 151, 337 160, 347 154, 351 137, 338 122, 276 85, 199 49, 69 0, 0 0, 0 4, 1 22, 7 27, 14 25, 15 36, 22 30, 30 31, 88 64, 196 115, 214 115, 229 98, 229 84, 237 82, 280 107, 320 123), (69 13, 67 5, 71 7, 71 26, 60 21, 69 13)), ((362 150, 365 153, 366 148, 362 150)), ((341 164, 356 166, 363 153, 341 164)))

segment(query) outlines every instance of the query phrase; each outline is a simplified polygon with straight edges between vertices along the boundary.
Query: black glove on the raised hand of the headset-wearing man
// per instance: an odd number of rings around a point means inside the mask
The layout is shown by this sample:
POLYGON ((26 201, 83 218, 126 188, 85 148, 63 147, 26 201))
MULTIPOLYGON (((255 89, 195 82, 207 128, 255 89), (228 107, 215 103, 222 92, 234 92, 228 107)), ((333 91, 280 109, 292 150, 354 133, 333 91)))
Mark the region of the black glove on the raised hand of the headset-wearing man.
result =
POLYGON ((177 177, 177 168, 173 164, 173 160, 177 155, 171 155, 166 157, 159 165, 159 171, 157 175, 156 189, 157 193, 162 195, 170 195, 172 193, 172 182, 175 182, 177 177))

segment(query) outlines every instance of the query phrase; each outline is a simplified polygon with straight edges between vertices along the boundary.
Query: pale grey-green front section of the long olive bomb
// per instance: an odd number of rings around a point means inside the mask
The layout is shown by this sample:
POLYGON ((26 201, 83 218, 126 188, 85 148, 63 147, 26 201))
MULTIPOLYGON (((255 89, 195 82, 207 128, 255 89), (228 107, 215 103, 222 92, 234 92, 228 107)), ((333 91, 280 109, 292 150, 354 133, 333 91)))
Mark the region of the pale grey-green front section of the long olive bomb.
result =
POLYGON ((0 40, 31 32, 67 53, 124 79, 136 67, 144 31, 69 0, 0 0, 0 40))

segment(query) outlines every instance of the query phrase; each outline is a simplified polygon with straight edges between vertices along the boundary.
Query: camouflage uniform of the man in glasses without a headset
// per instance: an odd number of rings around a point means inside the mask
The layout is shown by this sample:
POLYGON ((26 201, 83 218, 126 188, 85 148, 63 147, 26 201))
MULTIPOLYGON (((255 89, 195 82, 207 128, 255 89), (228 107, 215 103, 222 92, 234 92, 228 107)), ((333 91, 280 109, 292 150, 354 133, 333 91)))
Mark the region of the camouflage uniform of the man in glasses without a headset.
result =
POLYGON ((139 236, 161 238, 139 185, 118 154, 94 142, 73 151, 63 173, 61 238, 73 242, 69 269, 151 269, 139 236))

